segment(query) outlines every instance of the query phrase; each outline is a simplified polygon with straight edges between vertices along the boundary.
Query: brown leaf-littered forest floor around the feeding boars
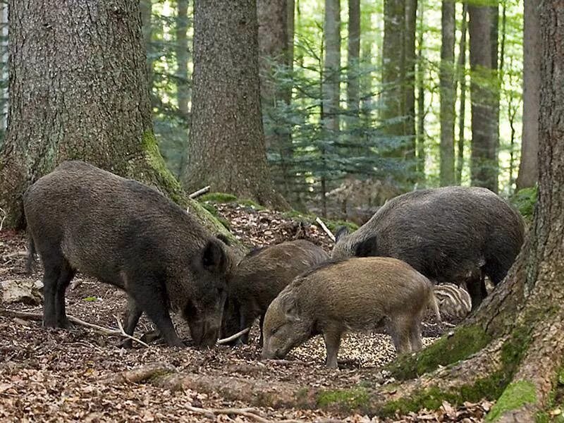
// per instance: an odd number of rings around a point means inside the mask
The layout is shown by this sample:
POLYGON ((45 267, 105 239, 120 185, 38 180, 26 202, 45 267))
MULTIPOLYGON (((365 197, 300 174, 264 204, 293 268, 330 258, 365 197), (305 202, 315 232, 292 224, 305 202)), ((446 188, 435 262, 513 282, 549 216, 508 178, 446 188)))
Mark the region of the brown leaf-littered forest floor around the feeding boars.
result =
MULTIPOLYGON (((217 205, 231 231, 245 245, 269 245, 295 238, 305 238, 331 249, 329 237, 309 223, 285 219, 281 214, 235 204, 217 205)), ((0 281, 10 279, 40 280, 39 271, 25 274, 25 234, 0 233, 0 281)), ((37 266, 39 267, 39 266, 37 266)), ((125 310, 125 294, 116 288, 77 275, 76 288, 67 292, 67 313, 105 327, 116 327, 116 317, 125 310)), ((0 308, 42 312, 40 305, 1 304, 0 308)), ((182 338, 188 338, 183 321, 174 317, 182 338)), ((137 331, 152 329, 142 318, 137 331)), ((441 330, 434 324, 424 326, 424 343, 432 343, 441 330)), ((354 386, 367 369, 380 367, 396 356, 391 338, 384 333, 350 334, 339 353, 340 370, 324 368, 324 344, 320 337, 290 353, 288 360, 259 360, 257 327, 252 342, 243 347, 216 346, 211 350, 168 348, 152 345, 120 348, 120 338, 106 336, 82 326, 68 330, 43 329, 38 321, 0 316, 0 421, 85 422, 380 422, 377 417, 343 414, 331 407, 324 410, 274 409, 253 407, 255 415, 214 415, 197 411, 250 407, 223 398, 219 393, 199 393, 183 389, 171 391, 146 383, 108 382, 112 375, 146 364, 167 364, 178 372, 202 377, 237 376, 262 379, 269 384, 294 384, 338 389, 354 386)), ((480 422, 491 404, 467 403, 441 409, 421 410, 399 416, 394 422, 480 422)), ((227 412, 226 412, 227 413, 227 412)))

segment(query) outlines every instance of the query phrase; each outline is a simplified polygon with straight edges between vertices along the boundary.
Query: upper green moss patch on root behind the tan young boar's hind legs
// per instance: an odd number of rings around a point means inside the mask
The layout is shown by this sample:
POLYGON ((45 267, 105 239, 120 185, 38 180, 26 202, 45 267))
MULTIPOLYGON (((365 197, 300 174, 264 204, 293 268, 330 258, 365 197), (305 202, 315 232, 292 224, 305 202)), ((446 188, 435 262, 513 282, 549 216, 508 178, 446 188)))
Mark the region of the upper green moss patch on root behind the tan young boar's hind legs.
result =
POLYGON ((415 379, 432 372, 439 366, 464 360, 482 350, 491 336, 481 326, 461 326, 452 336, 443 336, 419 354, 401 357, 388 366, 388 371, 398 380, 415 379))

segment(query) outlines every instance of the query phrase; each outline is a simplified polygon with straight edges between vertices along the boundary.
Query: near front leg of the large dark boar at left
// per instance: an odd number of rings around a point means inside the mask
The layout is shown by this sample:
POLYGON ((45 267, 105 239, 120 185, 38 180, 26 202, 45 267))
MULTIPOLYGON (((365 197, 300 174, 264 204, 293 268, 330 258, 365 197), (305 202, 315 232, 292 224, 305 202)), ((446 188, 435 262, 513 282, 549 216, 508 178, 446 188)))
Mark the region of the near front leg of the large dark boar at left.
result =
POLYGON ((171 314, 168 313, 168 301, 163 286, 152 281, 138 281, 128 287, 129 295, 133 297, 137 307, 147 314, 157 329, 161 332, 167 345, 171 347, 185 347, 178 338, 178 334, 172 324, 171 314))

